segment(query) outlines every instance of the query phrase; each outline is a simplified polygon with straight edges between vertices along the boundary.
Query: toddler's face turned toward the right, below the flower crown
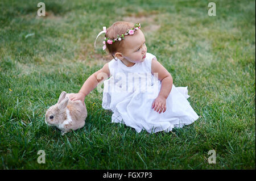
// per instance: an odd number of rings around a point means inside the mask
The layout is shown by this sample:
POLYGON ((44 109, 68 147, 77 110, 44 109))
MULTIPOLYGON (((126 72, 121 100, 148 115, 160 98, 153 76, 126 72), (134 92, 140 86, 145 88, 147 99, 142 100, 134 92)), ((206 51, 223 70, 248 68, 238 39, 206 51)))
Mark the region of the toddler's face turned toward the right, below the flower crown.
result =
POLYGON ((136 30, 137 35, 130 35, 125 37, 125 44, 123 44, 123 57, 133 63, 144 61, 146 58, 147 47, 145 44, 145 37, 141 30, 136 30))

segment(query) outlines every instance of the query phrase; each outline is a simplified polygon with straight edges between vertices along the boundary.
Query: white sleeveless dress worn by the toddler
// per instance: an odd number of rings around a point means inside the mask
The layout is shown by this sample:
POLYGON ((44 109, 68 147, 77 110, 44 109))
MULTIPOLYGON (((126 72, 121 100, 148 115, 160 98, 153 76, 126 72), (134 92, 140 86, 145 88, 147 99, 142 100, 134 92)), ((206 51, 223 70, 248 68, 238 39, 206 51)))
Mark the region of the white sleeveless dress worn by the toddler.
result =
POLYGON ((199 118, 190 106, 187 87, 175 87, 166 99, 166 112, 158 113, 152 103, 158 96, 161 82, 151 74, 155 56, 146 54, 143 62, 127 67, 121 60, 109 62, 110 78, 104 81, 102 107, 111 110, 112 123, 123 123, 137 132, 169 132, 199 118))

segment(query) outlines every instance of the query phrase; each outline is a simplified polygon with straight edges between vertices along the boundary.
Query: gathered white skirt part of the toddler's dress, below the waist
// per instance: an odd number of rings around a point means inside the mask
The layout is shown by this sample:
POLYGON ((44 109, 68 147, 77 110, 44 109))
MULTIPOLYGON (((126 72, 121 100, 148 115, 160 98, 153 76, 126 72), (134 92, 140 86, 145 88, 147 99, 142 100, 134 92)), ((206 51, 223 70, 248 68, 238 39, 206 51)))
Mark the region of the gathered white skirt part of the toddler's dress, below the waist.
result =
POLYGON ((160 81, 148 86, 146 92, 109 92, 105 90, 106 83, 110 83, 110 79, 104 81, 102 107, 112 110, 112 123, 123 123, 137 132, 146 130, 148 133, 156 133, 170 132, 175 127, 182 128, 199 118, 187 100, 187 87, 172 85, 166 99, 166 112, 158 113, 152 108, 152 103, 159 94, 160 81))

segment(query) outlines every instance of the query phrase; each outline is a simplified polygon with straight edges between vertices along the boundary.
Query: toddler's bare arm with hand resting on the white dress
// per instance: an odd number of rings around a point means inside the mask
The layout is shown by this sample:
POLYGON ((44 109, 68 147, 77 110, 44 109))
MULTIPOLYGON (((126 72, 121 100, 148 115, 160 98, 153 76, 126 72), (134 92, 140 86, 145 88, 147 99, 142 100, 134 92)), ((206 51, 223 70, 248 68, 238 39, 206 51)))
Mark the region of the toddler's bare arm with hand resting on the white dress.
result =
POLYGON ((172 90, 173 79, 171 74, 161 65, 156 58, 152 59, 151 63, 151 73, 158 76, 159 81, 161 81, 161 89, 158 97, 152 103, 152 108, 155 111, 161 113, 166 111, 166 99, 172 90))

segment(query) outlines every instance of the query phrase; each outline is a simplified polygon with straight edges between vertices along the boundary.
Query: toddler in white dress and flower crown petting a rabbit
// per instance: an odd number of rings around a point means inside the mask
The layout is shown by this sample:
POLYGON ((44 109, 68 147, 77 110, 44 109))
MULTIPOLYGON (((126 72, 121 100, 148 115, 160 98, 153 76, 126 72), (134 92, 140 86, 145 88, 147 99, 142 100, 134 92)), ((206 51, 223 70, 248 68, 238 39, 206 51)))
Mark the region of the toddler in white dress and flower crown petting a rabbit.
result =
POLYGON ((90 75, 70 99, 84 102, 85 96, 104 81, 102 107, 112 110, 112 123, 148 133, 170 132, 193 123, 199 116, 187 100, 187 87, 173 85, 171 74, 147 52, 140 28, 141 24, 130 22, 115 22, 107 30, 104 27, 98 36, 105 33, 103 49, 113 60, 90 75))

